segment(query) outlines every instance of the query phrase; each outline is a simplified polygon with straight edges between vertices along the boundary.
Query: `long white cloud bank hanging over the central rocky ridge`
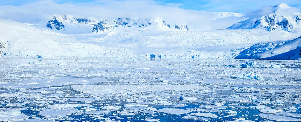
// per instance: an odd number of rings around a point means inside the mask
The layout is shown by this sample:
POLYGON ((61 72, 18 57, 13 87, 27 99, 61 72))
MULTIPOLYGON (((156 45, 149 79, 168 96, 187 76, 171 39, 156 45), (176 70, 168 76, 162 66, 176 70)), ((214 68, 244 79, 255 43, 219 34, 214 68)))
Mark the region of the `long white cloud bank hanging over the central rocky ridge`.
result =
MULTIPOLYGON (((223 24, 213 24, 213 14, 207 11, 185 10, 181 4, 167 3, 160 5, 153 0, 99 0, 79 4, 58 4, 51 0, 42 0, 20 6, 0 5, 0 18, 11 19, 23 23, 45 24, 53 15, 74 15, 93 17, 100 20, 117 17, 154 18, 161 17, 168 23, 188 24, 190 27, 225 28, 234 21, 222 21, 223 24), (219 26, 216 26, 219 25, 219 26), (223 26, 221 26, 223 25, 223 26)), ((216 22, 216 21, 215 21, 216 22)))

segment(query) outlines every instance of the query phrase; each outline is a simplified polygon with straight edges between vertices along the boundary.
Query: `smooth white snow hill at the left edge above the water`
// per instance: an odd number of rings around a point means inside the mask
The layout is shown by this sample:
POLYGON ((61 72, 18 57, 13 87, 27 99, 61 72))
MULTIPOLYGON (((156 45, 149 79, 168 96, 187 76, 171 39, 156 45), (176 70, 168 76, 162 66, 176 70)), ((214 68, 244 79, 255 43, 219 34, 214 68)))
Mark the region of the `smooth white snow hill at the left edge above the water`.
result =
POLYGON ((0 28, 0 55, 54 56, 69 51, 23 23, 0 19, 0 28))

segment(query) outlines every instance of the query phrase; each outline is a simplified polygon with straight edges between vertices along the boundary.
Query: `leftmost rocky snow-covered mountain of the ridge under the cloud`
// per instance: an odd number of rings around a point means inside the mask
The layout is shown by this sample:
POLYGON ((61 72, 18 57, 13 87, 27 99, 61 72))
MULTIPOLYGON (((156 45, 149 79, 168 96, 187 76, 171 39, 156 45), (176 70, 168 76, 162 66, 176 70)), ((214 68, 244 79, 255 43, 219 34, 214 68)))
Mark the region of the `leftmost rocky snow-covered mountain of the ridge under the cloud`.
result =
POLYGON ((91 33, 99 20, 70 15, 54 16, 48 21, 47 27, 61 33, 91 33))

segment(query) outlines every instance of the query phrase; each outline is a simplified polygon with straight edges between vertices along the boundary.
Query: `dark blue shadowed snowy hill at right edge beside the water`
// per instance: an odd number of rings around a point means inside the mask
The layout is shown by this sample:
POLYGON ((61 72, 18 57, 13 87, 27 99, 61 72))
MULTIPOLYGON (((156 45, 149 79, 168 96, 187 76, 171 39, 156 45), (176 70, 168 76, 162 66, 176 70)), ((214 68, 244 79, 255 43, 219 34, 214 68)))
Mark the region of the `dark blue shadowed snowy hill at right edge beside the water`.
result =
POLYGON ((301 37, 282 42, 265 42, 247 48, 236 58, 301 60, 301 37))

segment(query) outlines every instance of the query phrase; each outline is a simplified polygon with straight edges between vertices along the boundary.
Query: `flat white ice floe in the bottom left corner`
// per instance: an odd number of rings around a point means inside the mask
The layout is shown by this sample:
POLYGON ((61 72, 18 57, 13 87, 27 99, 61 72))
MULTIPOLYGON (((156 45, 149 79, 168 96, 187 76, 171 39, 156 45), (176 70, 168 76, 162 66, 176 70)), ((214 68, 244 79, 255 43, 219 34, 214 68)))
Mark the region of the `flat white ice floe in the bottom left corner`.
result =
POLYGON ((0 111, 0 121, 25 120, 28 118, 20 111, 0 111))

